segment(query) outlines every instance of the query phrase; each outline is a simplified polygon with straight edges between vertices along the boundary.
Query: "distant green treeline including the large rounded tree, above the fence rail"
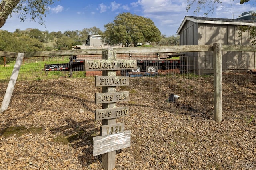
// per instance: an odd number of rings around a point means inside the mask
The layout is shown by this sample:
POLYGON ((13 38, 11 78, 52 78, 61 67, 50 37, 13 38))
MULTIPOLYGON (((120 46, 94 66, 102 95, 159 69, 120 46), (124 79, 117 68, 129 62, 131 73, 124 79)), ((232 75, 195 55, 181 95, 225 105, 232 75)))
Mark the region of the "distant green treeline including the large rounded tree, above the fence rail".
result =
MULTIPOLYGON (((86 44, 89 34, 102 35, 102 43, 126 47, 179 45, 179 36, 161 35, 149 18, 122 13, 106 25, 105 32, 97 27, 83 30, 49 32, 37 28, 16 29, 14 32, 0 30, 0 51, 28 52, 72 49, 72 46, 86 44)), ((3 57, 0 57, 0 61, 3 57)))

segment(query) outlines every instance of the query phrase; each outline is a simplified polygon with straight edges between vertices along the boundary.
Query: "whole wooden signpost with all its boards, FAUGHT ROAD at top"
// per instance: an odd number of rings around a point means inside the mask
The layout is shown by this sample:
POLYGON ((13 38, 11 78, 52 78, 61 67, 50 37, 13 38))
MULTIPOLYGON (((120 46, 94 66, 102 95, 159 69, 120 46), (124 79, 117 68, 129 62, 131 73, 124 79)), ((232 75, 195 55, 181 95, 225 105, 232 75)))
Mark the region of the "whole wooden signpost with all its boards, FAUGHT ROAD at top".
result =
POLYGON ((95 86, 102 86, 102 93, 95 94, 95 103, 102 109, 95 110, 95 120, 102 120, 100 136, 93 138, 93 156, 102 155, 102 166, 106 170, 115 168, 116 150, 129 147, 131 131, 124 131, 124 123, 116 123, 117 117, 128 116, 129 107, 116 107, 116 102, 128 101, 129 91, 116 92, 116 86, 129 85, 129 77, 116 76, 116 70, 136 69, 136 60, 117 60, 116 51, 102 51, 102 60, 86 60, 86 71, 102 71, 95 77, 95 86))

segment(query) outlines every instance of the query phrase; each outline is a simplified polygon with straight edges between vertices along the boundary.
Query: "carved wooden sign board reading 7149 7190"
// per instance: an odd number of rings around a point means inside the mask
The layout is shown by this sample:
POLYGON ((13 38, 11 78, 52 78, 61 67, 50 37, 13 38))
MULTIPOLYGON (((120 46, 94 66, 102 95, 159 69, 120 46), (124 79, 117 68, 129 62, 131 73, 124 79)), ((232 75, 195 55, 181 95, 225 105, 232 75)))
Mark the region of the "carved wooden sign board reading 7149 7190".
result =
POLYGON ((128 116, 129 107, 115 107, 115 108, 106 108, 106 109, 97 109, 95 110, 95 120, 103 119, 113 119, 117 117, 128 116))

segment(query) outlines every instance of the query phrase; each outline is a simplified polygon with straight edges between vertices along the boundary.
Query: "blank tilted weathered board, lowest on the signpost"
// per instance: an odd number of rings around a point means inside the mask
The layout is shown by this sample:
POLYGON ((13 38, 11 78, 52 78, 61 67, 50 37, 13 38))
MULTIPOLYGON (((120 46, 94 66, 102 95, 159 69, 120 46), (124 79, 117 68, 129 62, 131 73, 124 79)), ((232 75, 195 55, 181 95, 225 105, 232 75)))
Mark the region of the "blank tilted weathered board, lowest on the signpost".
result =
POLYGON ((131 131, 112 134, 108 136, 96 136, 93 138, 93 156, 105 154, 115 150, 131 146, 131 131))

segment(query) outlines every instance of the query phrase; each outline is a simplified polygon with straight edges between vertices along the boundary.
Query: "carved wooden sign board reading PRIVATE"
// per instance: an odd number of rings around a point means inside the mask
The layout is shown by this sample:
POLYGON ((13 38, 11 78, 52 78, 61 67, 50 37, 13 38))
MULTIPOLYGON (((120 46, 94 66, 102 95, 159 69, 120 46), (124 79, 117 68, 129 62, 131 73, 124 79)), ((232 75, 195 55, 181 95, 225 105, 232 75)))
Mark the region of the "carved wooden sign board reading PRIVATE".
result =
POLYGON ((126 86, 129 85, 127 76, 95 76, 95 86, 126 86))

